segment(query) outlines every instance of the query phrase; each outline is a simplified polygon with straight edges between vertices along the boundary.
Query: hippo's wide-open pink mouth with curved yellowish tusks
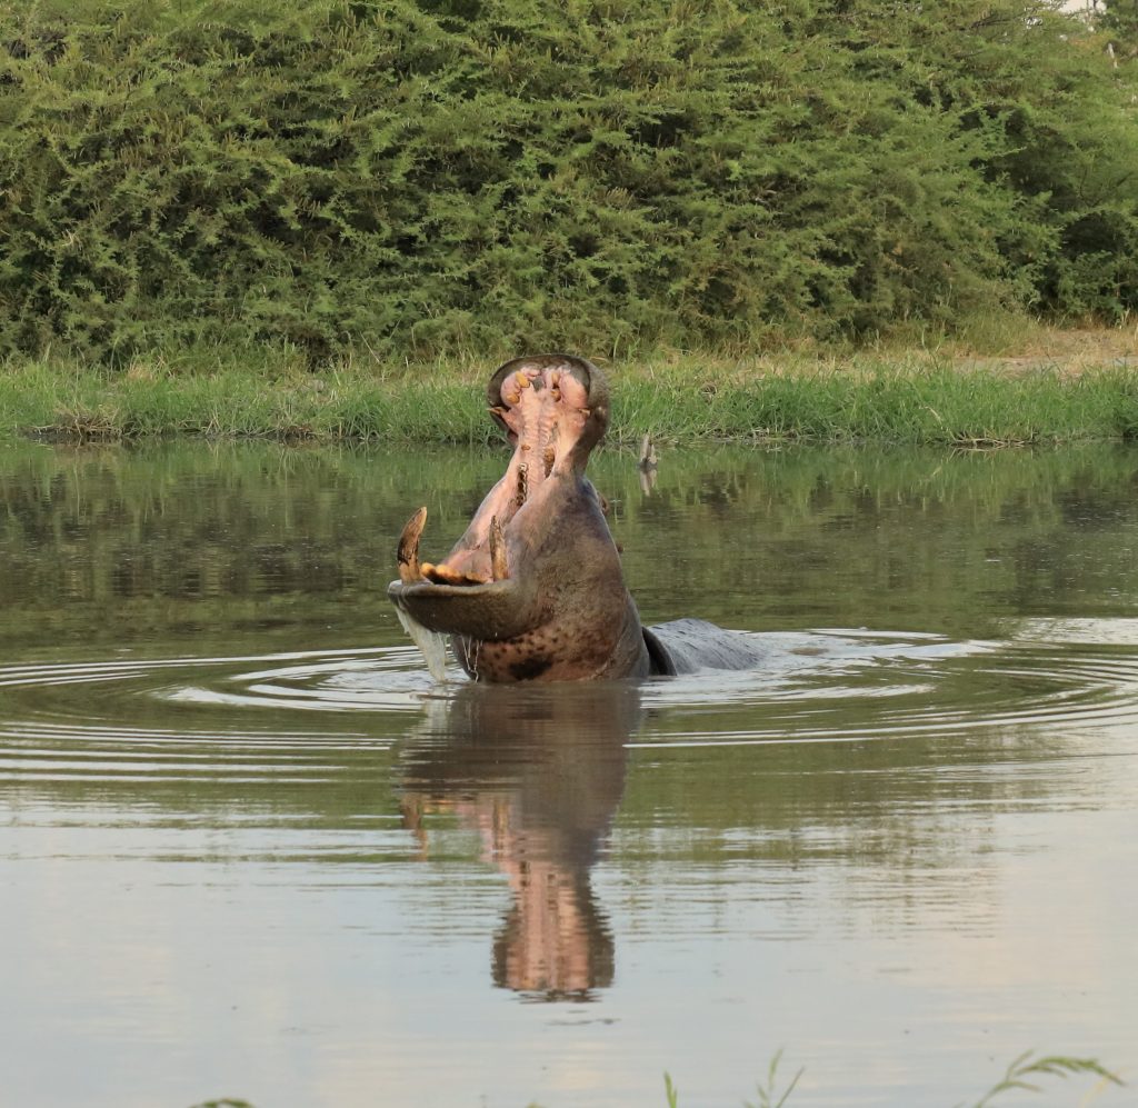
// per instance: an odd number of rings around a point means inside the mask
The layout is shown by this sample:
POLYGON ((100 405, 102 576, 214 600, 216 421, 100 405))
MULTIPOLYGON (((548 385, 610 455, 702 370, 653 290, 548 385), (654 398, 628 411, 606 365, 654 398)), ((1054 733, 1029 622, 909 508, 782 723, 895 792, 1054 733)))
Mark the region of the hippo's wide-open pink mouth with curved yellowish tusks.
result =
POLYGON ((529 522, 541 526, 549 490, 560 478, 576 479, 584 471, 608 425, 603 377, 584 358, 566 354, 506 362, 490 379, 487 400, 514 447, 510 464, 445 561, 420 561, 427 508, 411 516, 396 549, 404 589, 469 589, 509 579, 521 534, 529 522))

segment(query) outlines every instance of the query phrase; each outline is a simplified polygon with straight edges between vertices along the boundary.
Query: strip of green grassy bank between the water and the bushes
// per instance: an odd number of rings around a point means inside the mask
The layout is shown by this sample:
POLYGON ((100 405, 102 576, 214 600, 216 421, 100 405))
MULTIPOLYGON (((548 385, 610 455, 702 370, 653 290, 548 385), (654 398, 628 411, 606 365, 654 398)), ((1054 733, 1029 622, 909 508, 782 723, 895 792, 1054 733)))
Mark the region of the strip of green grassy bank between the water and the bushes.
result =
MULTIPOLYGON (((610 439, 625 444, 645 433, 679 443, 963 446, 1138 437, 1138 365, 1118 341, 1079 356, 676 355, 604 367, 610 439)), ((472 359, 395 369, 348 362, 313 373, 298 358, 264 353, 240 364, 156 361, 119 372, 10 363, 0 374, 0 433, 477 444, 496 438, 483 402, 492 369, 472 359)))

